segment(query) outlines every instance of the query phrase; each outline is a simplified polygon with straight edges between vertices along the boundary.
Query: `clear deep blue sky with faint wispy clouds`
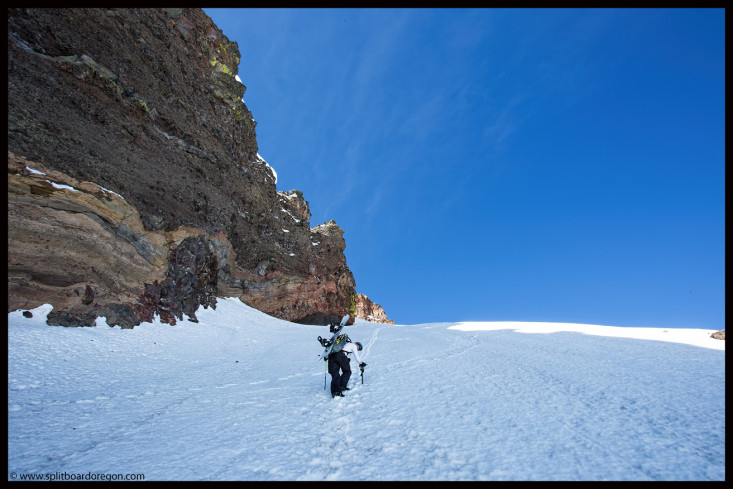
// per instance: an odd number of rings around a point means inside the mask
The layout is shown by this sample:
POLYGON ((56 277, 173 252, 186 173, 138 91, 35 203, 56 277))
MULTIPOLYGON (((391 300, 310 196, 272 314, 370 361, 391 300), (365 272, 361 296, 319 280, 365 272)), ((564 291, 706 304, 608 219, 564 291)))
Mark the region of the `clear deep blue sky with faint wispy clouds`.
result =
POLYGON ((204 9, 399 324, 725 327, 722 9, 204 9))

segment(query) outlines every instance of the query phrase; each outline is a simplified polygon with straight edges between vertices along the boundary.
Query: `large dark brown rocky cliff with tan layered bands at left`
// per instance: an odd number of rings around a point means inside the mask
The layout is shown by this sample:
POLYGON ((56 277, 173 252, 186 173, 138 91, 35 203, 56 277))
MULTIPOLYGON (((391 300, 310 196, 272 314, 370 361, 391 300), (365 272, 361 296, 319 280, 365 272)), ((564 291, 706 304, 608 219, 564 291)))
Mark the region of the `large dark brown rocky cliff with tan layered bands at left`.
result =
POLYGON ((343 230, 278 192, 200 9, 8 9, 9 311, 196 320, 217 297, 311 324, 356 303, 343 230))

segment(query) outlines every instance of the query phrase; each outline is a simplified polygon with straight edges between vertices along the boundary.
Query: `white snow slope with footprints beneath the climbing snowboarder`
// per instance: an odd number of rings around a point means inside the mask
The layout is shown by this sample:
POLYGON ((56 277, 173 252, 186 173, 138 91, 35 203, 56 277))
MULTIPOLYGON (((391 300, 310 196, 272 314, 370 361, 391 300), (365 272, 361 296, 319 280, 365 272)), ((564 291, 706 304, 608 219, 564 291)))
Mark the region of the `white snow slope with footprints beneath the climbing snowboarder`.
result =
POLYGON ((712 331, 358 320, 364 383, 352 361, 331 399, 323 326, 236 299, 132 330, 50 310, 8 314, 9 479, 725 479, 712 331))

